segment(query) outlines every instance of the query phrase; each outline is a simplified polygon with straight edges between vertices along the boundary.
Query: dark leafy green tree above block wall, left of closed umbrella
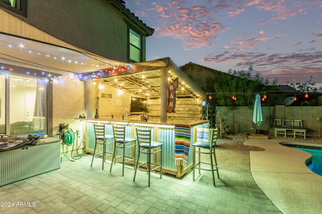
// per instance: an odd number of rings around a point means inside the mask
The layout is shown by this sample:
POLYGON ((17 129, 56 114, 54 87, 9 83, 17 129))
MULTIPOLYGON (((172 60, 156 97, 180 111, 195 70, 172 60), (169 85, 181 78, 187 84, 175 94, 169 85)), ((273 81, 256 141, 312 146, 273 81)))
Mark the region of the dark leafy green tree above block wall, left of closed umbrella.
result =
POLYGON ((212 94, 211 103, 216 106, 252 106, 255 95, 267 96, 264 105, 272 105, 276 99, 270 94, 276 90, 277 79, 270 82, 259 74, 252 75, 253 66, 247 71, 231 70, 216 78, 208 78, 206 91, 212 94), (235 98, 235 99, 232 99, 235 98))

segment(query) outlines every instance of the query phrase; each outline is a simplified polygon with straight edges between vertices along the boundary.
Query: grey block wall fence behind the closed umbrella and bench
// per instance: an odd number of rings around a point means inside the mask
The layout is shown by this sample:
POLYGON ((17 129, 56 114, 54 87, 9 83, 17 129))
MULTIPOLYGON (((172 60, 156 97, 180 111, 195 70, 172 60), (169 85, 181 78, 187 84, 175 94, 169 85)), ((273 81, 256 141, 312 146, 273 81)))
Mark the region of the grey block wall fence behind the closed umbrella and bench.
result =
MULTIPOLYGON (((223 107, 217 106, 216 112, 224 117, 228 133, 255 133, 253 127, 253 109, 249 107, 223 107)), ((258 132, 274 134, 274 119, 299 119, 307 129, 307 136, 322 135, 322 106, 262 106, 264 122, 257 125, 258 132), (320 129, 320 130, 319 130, 320 129)), ((216 124, 219 120, 216 117, 216 124)))

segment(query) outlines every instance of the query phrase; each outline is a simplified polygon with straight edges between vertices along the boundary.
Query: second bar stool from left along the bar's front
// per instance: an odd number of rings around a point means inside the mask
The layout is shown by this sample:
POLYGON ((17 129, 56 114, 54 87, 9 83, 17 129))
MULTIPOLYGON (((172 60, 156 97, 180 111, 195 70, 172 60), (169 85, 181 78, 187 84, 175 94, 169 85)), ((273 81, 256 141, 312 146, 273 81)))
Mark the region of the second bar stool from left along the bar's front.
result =
POLYGON ((125 136, 125 126, 113 126, 113 134, 114 134, 114 152, 113 152, 113 158, 112 158, 110 172, 112 171, 113 162, 114 163, 122 163, 123 164, 122 176, 124 176, 124 164, 125 163, 133 160, 134 161, 134 168, 135 168, 135 152, 134 152, 134 157, 126 156, 125 149, 129 149, 134 146, 134 151, 135 151, 135 143, 132 144, 132 142, 135 142, 136 138, 125 136), (123 150, 122 156, 119 156, 119 157, 117 157, 117 155, 116 155, 118 148, 123 150), (125 160, 125 158, 127 158, 127 160, 125 160))

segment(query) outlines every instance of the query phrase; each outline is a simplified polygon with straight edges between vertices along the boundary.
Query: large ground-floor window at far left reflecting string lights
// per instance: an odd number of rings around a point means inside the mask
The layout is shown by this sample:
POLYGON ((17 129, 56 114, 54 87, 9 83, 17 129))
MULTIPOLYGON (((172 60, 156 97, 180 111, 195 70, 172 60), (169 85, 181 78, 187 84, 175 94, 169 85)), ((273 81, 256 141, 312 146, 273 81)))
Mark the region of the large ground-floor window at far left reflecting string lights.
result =
POLYGON ((0 92, 1 134, 46 133, 47 82, 45 78, 0 74, 0 87, 5 89, 0 92))

